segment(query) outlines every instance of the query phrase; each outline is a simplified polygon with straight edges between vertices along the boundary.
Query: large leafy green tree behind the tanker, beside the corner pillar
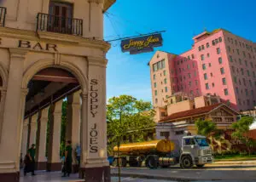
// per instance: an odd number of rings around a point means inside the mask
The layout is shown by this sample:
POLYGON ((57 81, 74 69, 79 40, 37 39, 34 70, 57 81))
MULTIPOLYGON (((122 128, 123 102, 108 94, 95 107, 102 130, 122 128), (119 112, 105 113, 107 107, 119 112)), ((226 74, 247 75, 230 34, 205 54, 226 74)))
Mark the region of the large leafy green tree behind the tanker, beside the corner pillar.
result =
MULTIPOLYGON (((134 136, 134 141, 143 140, 147 128, 154 127, 154 110, 150 102, 137 100, 131 95, 120 95, 108 100, 108 153, 119 139, 134 136)), ((125 143, 126 141, 121 141, 125 143)))

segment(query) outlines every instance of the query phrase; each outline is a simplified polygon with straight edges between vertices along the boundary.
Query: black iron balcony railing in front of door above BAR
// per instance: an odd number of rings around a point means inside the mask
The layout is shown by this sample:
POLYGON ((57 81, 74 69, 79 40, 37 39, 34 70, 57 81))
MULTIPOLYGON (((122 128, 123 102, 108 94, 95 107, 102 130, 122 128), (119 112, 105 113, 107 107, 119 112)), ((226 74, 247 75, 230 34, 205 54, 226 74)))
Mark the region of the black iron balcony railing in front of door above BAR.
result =
POLYGON ((83 20, 40 13, 37 18, 37 31, 52 31, 83 36, 83 20))

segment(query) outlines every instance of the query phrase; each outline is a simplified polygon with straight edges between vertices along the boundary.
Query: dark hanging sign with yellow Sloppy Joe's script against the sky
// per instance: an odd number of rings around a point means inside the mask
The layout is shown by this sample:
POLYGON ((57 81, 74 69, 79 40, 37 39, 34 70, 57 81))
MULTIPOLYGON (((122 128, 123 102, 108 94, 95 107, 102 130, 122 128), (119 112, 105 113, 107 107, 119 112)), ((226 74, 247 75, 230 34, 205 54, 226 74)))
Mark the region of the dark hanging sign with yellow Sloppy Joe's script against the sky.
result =
POLYGON ((122 52, 130 54, 140 54, 154 51, 154 47, 160 47, 163 44, 161 34, 154 34, 144 37, 125 39, 121 42, 122 52))

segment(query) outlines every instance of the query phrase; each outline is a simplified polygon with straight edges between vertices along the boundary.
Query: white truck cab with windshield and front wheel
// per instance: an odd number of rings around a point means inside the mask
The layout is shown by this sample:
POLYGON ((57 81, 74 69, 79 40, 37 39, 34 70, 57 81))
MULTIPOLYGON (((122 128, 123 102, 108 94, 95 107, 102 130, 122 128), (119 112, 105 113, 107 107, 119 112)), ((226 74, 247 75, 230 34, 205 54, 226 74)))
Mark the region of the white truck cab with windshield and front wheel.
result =
POLYGON ((184 136, 179 163, 182 168, 203 167, 213 162, 212 149, 201 135, 184 136))

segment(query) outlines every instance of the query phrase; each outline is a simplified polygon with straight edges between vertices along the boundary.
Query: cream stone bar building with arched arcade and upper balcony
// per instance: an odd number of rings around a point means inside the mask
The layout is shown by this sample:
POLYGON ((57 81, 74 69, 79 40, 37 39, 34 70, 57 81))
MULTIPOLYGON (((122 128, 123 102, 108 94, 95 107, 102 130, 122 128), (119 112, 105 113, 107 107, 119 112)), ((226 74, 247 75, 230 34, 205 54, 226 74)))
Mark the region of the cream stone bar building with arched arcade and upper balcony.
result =
POLYGON ((37 144, 38 168, 60 169, 61 105, 66 96, 67 139, 81 145, 80 177, 85 173, 87 182, 110 181, 106 151, 110 44, 102 40, 102 13, 114 2, 1 1, 0 181, 19 181, 20 153, 24 156, 32 143, 37 144), (44 157, 47 122, 48 161, 44 157))

